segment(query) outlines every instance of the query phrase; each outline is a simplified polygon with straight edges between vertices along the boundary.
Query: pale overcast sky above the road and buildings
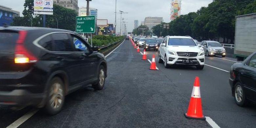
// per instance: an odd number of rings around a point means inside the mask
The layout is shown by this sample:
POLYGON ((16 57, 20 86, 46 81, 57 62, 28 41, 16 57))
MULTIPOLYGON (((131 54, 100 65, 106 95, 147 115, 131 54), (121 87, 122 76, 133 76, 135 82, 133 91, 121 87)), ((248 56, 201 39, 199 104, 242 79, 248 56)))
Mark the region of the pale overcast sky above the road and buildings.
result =
MULTIPOLYGON (((15 11, 24 10, 25 0, 1 0, 0 5, 15 11)), ((181 0, 181 14, 196 12, 201 7, 207 7, 213 0, 181 0)), ((79 7, 86 7, 85 0, 78 0, 79 7)), ((98 19, 108 19, 109 24, 115 23, 115 0, 92 0, 90 8, 98 9, 98 19)), ((134 20, 144 21, 145 17, 163 17, 164 22, 170 22, 171 0, 117 0, 117 11, 128 12, 122 14, 127 22, 128 31, 134 29, 134 20)), ((117 13, 117 30, 120 30, 120 14, 117 13)), ((118 32, 118 31, 117 31, 118 32)))

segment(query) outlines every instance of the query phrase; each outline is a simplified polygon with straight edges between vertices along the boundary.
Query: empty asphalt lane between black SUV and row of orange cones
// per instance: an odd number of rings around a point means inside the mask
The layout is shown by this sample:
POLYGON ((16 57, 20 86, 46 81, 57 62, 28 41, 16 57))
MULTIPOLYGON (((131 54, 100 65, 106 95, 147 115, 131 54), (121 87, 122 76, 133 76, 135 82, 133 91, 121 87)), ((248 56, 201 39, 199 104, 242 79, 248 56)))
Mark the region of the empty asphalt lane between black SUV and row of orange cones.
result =
POLYGON ((206 121, 183 116, 184 99, 176 86, 159 71, 149 70, 149 62, 130 47, 123 43, 107 57, 102 91, 78 90, 67 96, 59 114, 38 113, 21 127, 209 127, 206 121))

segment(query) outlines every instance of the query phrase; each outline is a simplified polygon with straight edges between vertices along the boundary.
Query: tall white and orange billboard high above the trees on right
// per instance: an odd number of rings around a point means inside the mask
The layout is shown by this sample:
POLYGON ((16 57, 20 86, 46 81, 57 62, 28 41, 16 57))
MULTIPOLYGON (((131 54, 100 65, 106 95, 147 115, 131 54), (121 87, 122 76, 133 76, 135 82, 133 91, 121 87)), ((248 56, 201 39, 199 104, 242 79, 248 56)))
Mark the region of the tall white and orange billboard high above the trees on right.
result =
POLYGON ((171 20, 181 15, 181 0, 172 0, 171 2, 171 20))

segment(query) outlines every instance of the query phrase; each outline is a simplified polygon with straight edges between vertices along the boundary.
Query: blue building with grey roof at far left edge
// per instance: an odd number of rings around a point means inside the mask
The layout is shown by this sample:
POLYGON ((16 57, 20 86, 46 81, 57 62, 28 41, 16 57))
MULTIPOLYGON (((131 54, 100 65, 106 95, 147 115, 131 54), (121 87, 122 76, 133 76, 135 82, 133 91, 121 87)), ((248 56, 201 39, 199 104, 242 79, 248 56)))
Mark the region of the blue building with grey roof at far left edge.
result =
POLYGON ((14 17, 20 16, 19 11, 14 11, 9 7, 0 5, 0 26, 11 25, 14 17))

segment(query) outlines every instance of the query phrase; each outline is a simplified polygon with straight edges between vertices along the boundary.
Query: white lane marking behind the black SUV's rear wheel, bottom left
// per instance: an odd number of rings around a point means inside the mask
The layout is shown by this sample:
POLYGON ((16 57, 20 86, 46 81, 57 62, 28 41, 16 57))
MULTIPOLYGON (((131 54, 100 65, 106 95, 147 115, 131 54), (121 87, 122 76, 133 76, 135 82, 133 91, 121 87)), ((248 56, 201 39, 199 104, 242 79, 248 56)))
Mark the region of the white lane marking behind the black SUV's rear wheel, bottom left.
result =
POLYGON ((37 111, 38 111, 38 109, 36 109, 36 110, 33 109, 33 110, 27 112, 25 115, 18 118, 16 121, 14 121, 12 124, 10 124, 6 128, 17 128, 17 127, 19 127, 22 123, 24 123, 26 120, 28 120, 30 117, 32 117, 37 111))

